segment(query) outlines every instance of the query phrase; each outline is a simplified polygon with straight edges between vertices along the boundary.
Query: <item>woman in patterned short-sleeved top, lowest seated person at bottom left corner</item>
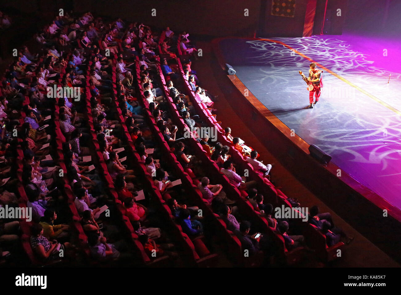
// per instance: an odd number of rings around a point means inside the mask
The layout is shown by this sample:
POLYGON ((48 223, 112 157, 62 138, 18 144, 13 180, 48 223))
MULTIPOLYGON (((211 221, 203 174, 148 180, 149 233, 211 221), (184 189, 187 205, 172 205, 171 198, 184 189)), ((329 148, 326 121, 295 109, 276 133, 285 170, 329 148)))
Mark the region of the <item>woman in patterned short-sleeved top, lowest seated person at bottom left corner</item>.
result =
POLYGON ((33 252, 42 260, 58 259, 59 251, 71 247, 69 242, 60 244, 57 240, 51 242, 43 236, 43 227, 41 224, 33 224, 30 228, 30 246, 33 252))

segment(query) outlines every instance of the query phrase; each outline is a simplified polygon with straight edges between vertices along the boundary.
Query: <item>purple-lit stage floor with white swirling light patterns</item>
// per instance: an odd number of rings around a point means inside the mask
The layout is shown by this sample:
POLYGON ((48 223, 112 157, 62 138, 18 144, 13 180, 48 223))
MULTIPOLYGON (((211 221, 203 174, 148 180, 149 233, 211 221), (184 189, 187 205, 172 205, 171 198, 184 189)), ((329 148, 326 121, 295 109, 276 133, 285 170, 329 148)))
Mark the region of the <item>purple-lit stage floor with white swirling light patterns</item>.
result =
POLYGON ((349 33, 227 38, 219 47, 249 92, 279 120, 401 209, 401 40, 349 33), (316 107, 304 109, 309 92, 298 70, 308 76, 312 61, 324 70, 323 88, 316 107))

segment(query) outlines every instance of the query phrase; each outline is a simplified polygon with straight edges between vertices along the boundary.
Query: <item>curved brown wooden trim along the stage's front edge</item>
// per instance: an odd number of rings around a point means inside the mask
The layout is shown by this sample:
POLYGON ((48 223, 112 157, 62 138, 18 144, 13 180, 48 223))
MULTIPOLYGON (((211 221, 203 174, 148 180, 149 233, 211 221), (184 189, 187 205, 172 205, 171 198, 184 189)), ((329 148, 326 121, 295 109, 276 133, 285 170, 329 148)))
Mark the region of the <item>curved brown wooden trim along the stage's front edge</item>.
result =
MULTIPOLYGON (((213 50, 215 52, 215 55, 217 57, 217 60, 219 61, 219 65, 225 71, 225 60, 224 56, 221 53, 219 43, 220 41, 224 39, 247 39, 247 40, 266 40, 270 41, 269 39, 261 39, 261 38, 244 38, 244 37, 222 37, 222 38, 217 38, 212 40, 212 46, 213 50)), ((281 44, 281 43, 280 43, 281 44)), ((284 44, 282 44, 285 46, 284 44)), ((307 58, 308 60, 314 62, 312 59, 307 58)), ((279 130, 288 140, 290 140, 294 146, 300 150, 302 150, 306 155, 309 155, 309 145, 305 140, 303 140, 300 136, 297 134, 294 134, 295 136, 291 136, 292 131, 288 126, 286 126, 281 120, 279 120, 272 112, 269 111, 253 94, 248 90, 248 96, 244 96, 243 94, 245 93, 245 90, 247 90, 247 87, 242 83, 242 81, 237 77, 237 75, 227 75, 227 77, 231 80, 233 85, 237 88, 240 94, 242 94, 243 98, 245 98, 251 105, 254 110, 257 110, 261 116, 265 118, 265 120, 269 121, 277 130, 279 130)), ((377 101, 381 103, 381 101, 377 101)), ((311 161, 315 161, 312 157, 310 157, 311 161)), ((317 163, 317 162, 316 162, 317 163)), ((332 177, 335 177, 338 179, 337 171, 340 169, 337 165, 333 164, 332 162, 328 163, 328 165, 320 165, 321 167, 324 167, 331 175, 332 177)), ((351 175, 346 173, 343 169, 341 170, 341 181, 345 183, 352 191, 355 193, 365 197, 367 200, 369 200, 371 203, 376 205, 378 208, 381 210, 386 209, 388 214, 401 222, 401 210, 391 203, 389 203, 387 200, 383 199, 380 195, 363 185, 362 183, 356 181, 351 175)))

